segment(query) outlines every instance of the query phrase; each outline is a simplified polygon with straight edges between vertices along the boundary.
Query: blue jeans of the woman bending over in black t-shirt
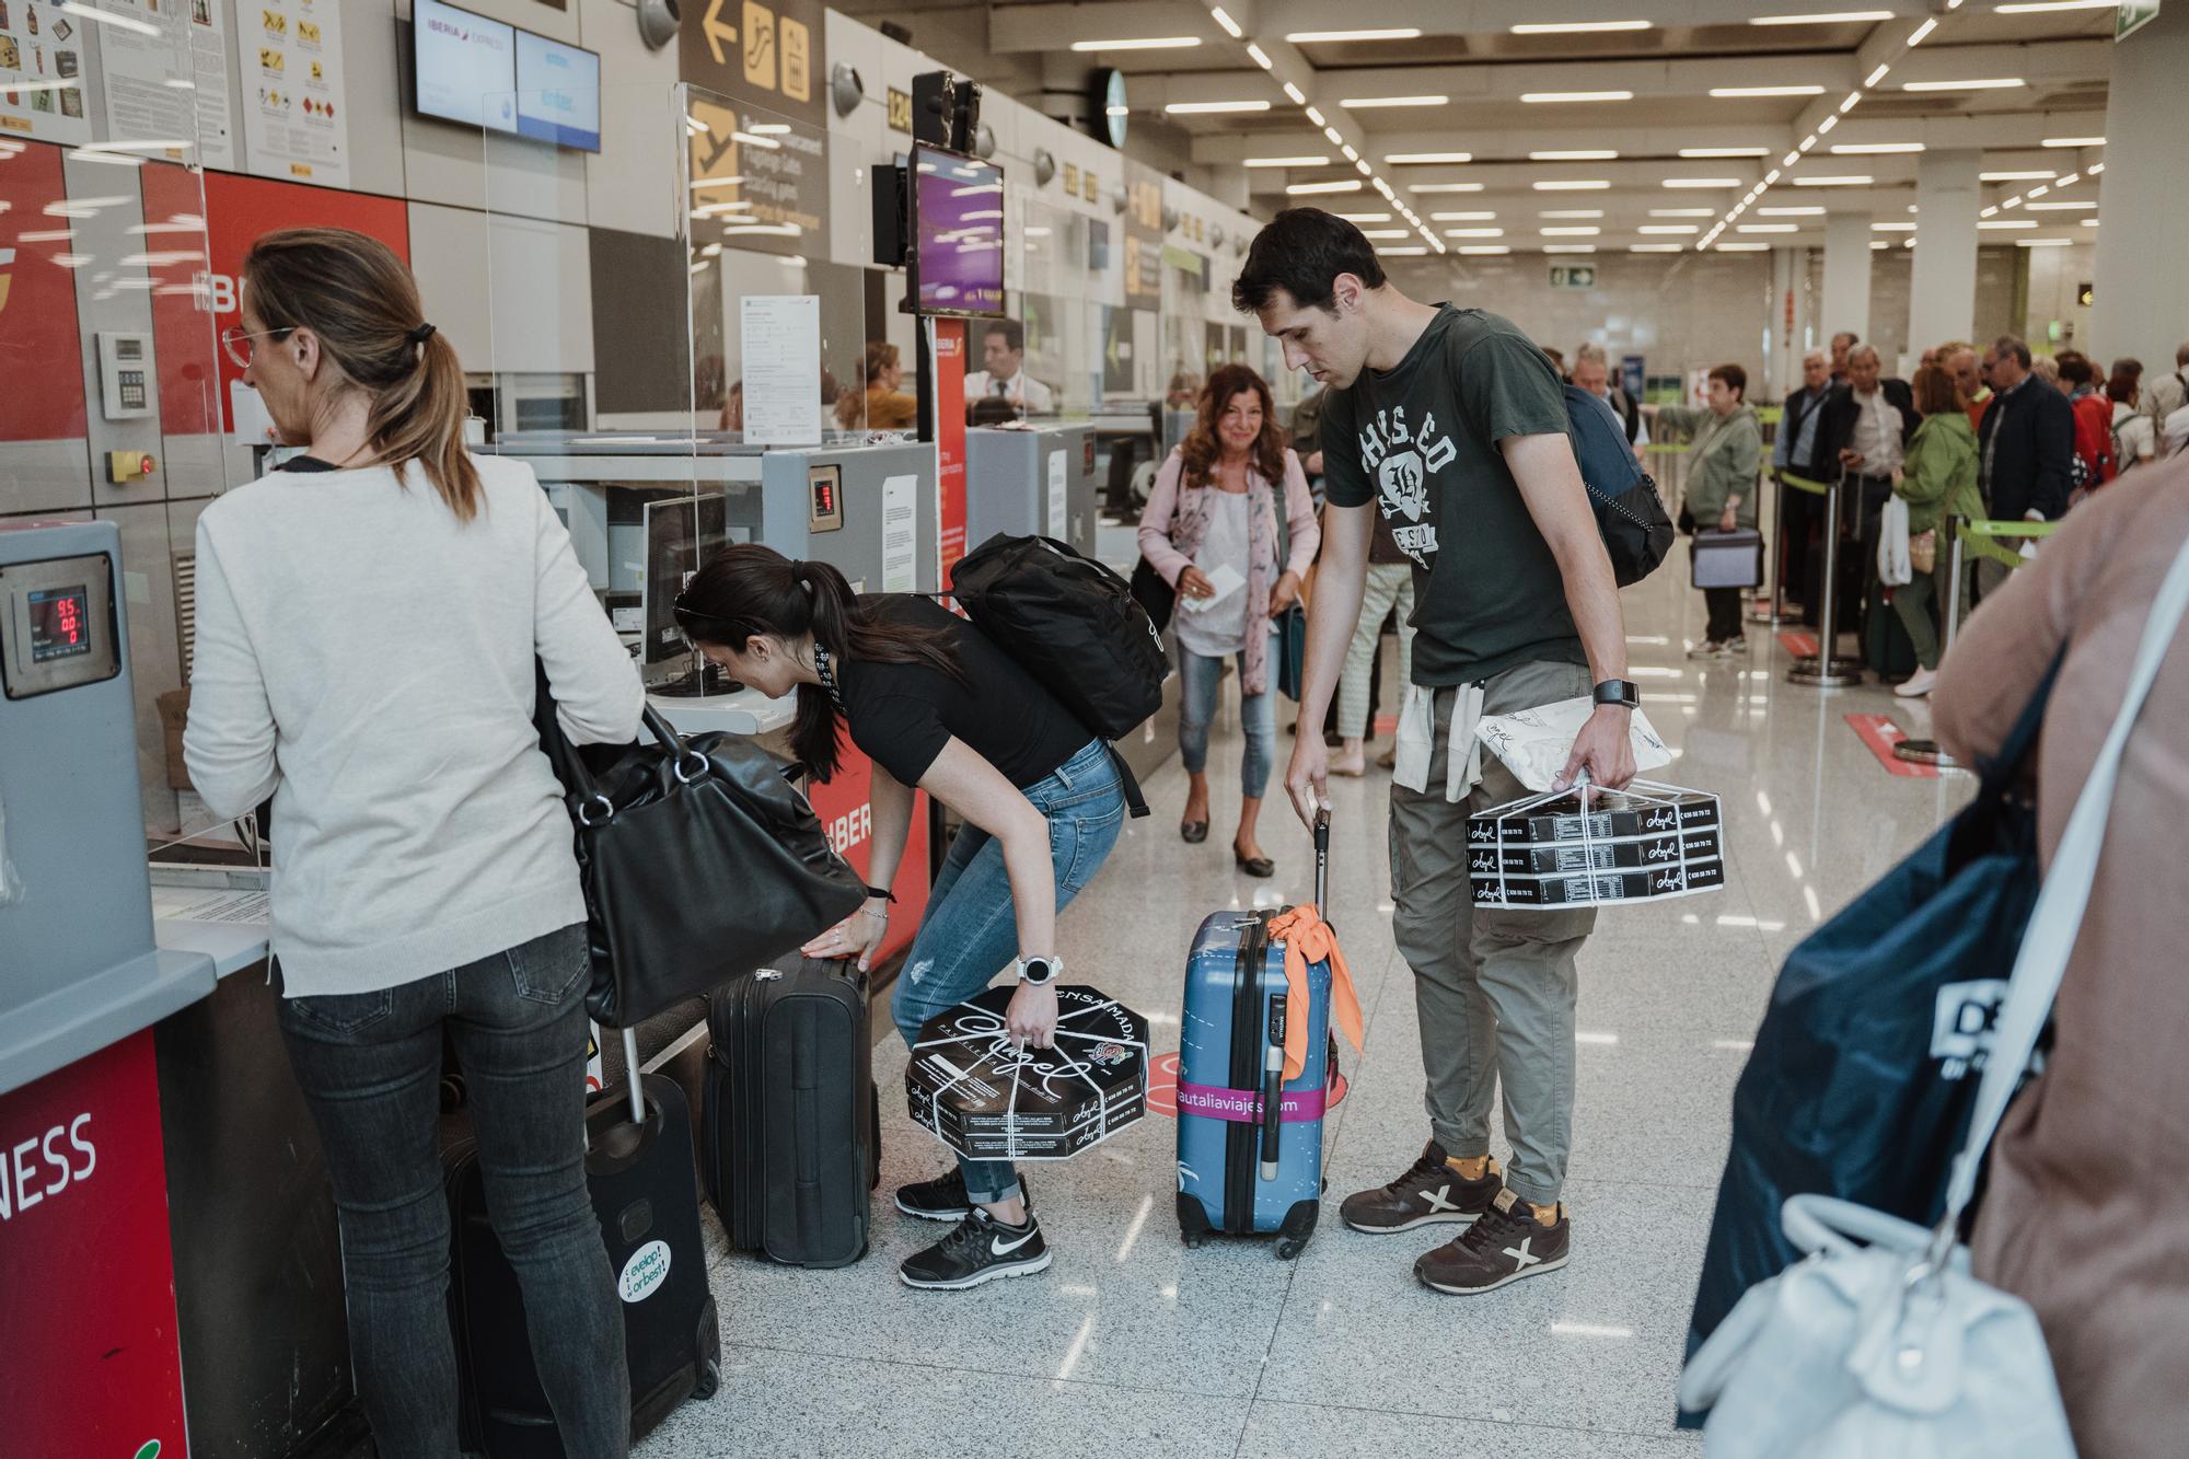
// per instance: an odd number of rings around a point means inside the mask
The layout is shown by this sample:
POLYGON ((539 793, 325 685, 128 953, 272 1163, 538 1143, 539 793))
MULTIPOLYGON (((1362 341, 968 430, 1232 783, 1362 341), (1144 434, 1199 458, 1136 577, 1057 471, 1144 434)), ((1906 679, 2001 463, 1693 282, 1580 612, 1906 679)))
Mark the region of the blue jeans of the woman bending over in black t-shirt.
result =
MULTIPOLYGON (((1024 789, 1033 808, 1049 817, 1049 859, 1057 872, 1057 911, 1094 881, 1116 832, 1125 824, 1125 789, 1116 778, 1110 747, 1092 740, 1046 780, 1024 789)), ((1018 918, 1011 909, 1011 878, 1003 865, 1003 843, 978 826, 959 830, 943 859, 943 874, 928 892, 928 916, 904 955, 904 973, 889 999, 906 1047, 919 1043, 919 1027, 935 1014, 987 988, 996 973, 1018 957, 1018 918)), ((974 1205, 994 1205, 1022 1194, 1011 1161, 959 1159, 965 1194, 974 1205)))

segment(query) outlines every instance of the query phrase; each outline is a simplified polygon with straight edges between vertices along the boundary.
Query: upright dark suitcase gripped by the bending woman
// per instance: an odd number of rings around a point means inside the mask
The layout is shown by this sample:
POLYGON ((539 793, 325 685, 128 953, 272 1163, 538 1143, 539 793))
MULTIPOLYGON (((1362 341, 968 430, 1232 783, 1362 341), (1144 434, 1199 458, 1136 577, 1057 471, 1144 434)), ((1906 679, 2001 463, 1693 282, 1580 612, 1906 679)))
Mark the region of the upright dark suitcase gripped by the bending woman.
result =
POLYGON ((716 990, 707 1032, 700 1161, 729 1244, 790 1266, 867 1255, 882 1179, 867 975, 760 968, 716 990))

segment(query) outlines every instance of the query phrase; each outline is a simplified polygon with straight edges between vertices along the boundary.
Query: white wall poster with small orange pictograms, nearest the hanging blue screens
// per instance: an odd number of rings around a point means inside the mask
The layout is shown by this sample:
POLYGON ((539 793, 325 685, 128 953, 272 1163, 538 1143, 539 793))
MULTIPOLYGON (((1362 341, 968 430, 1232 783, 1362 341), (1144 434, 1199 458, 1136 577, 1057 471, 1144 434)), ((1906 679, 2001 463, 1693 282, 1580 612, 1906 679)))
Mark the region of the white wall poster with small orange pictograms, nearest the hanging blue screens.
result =
POLYGON ((350 186, 339 0, 239 0, 243 142, 260 177, 350 186))

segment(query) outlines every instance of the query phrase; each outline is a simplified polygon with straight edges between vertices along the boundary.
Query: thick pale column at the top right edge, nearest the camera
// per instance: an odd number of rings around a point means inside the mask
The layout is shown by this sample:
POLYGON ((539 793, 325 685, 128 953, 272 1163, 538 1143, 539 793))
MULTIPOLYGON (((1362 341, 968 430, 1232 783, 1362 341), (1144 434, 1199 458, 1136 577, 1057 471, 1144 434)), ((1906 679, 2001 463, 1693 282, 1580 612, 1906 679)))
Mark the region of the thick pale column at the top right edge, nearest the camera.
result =
POLYGON ((2134 355, 2147 377, 2171 370, 2176 346, 2189 340, 2182 77, 2189 0, 2161 7, 2158 20, 2115 46, 2106 92, 2090 355, 2134 355))

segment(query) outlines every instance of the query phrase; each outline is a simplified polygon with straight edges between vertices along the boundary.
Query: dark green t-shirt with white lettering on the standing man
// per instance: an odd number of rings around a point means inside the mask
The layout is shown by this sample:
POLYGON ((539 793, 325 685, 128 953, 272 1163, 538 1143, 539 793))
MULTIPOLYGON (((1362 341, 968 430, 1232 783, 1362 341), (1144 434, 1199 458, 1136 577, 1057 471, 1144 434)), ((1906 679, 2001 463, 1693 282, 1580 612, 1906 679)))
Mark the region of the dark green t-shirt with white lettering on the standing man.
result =
POLYGON ((1550 357, 1510 320, 1438 305, 1394 370, 1324 394, 1324 493, 1375 502, 1414 563, 1414 683, 1587 664, 1559 561, 1497 449, 1570 434, 1550 357))

